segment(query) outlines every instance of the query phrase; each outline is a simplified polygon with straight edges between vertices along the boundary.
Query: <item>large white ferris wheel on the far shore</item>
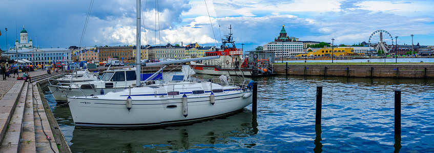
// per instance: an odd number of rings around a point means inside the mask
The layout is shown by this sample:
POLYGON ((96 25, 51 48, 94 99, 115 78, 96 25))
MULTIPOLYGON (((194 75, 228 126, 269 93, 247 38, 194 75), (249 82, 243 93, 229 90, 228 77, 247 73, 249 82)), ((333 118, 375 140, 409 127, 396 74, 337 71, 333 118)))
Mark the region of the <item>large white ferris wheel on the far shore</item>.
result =
POLYGON ((384 53, 389 53, 390 48, 387 45, 394 44, 394 38, 385 30, 377 30, 369 36, 369 46, 374 47, 376 52, 383 50, 384 53))

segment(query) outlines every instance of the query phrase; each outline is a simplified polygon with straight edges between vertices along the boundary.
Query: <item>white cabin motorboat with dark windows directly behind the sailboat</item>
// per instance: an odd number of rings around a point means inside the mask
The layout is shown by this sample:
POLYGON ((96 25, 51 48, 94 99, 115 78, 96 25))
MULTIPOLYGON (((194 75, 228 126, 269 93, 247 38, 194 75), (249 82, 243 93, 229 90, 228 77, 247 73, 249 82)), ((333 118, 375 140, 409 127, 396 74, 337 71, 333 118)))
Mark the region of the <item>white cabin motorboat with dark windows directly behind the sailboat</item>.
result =
POLYGON ((136 68, 104 71, 100 80, 65 83, 49 79, 48 88, 56 101, 66 101, 68 96, 99 95, 119 91, 136 84, 136 68))

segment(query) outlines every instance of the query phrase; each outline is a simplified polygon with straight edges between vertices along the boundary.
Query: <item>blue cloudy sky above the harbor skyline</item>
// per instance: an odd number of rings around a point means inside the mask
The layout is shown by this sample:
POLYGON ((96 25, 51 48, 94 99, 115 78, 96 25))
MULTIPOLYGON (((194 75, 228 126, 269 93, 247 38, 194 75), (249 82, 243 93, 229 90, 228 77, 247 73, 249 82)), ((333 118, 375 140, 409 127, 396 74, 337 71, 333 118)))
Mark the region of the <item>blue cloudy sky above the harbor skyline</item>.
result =
MULTIPOLYGON (((0 47, 13 46, 28 31, 42 48, 78 46, 90 0, 0 0, 0 47)), ((434 45, 434 3, 363 0, 142 0, 142 45, 220 45, 232 24, 237 47, 252 50, 274 41, 282 24, 301 41, 357 44, 386 30, 398 44, 434 45), (206 9, 208 7, 208 9, 206 9), (157 10, 157 11, 156 11, 157 10), (210 16, 209 16, 209 15, 210 16), (212 25, 211 25, 212 24, 212 25)), ((136 1, 94 1, 82 46, 134 45, 136 1)), ((36 44, 35 44, 36 43, 36 44)))

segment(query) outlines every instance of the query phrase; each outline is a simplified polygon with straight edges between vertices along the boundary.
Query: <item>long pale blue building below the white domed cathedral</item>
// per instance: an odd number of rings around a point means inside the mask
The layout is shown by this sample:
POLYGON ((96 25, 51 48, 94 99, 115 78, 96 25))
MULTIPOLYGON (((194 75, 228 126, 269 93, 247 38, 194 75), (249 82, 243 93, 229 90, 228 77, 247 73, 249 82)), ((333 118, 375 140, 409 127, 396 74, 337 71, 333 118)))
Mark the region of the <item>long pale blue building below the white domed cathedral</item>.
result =
MULTIPOLYGON (((4 53, 5 54, 5 53, 4 53)), ((36 64, 63 62, 70 63, 71 50, 67 48, 29 48, 18 50, 10 50, 8 54, 11 60, 26 59, 36 64)))

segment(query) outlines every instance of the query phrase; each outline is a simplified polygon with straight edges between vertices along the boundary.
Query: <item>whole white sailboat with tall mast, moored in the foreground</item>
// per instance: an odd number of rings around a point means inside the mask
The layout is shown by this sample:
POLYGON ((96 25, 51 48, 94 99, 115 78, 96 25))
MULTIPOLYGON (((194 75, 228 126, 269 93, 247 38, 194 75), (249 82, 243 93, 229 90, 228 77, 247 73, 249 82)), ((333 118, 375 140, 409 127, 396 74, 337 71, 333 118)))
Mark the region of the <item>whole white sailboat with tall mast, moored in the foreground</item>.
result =
MULTIPOLYGON (((137 1, 137 10, 137 46, 140 46, 140 0, 137 1)), ((140 57, 140 47, 136 48, 136 55, 140 57)), ((136 59, 136 65, 140 70, 139 59, 136 59)), ((125 127, 204 120, 236 112, 252 103, 252 89, 247 85, 249 81, 236 86, 229 84, 225 77, 220 80, 221 83, 217 84, 203 80, 185 81, 183 76, 174 76, 169 83, 146 85, 137 78, 136 87, 122 91, 68 97, 69 108, 76 126, 125 127)))

